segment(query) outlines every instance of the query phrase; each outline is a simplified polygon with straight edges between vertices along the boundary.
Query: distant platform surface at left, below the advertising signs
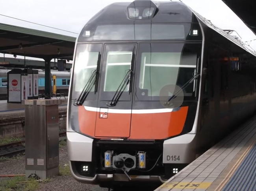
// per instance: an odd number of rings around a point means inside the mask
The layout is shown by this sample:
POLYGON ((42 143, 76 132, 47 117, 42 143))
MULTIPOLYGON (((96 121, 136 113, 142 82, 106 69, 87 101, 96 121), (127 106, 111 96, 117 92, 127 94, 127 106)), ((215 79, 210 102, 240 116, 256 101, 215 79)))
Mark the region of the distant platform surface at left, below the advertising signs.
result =
MULTIPOLYGON (((52 99, 55 99, 55 98, 52 98, 52 99)), ((57 99, 61 100, 59 109, 67 108, 67 98, 57 97, 57 99)), ((7 100, 0 100, 0 116, 10 114, 10 113, 22 113, 24 112, 24 110, 25 110, 24 104, 7 103, 7 100)))

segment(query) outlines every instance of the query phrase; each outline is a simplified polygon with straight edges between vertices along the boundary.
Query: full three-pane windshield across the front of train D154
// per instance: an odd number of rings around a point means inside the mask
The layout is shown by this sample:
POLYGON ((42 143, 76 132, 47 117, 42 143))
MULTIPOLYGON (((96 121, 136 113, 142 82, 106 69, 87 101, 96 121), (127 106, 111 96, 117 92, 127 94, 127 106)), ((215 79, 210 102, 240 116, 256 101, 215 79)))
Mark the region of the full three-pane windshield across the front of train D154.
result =
MULTIPOLYGON (((141 42, 137 44, 106 44, 102 52, 102 44, 78 44, 74 62, 74 79, 72 99, 77 99, 89 82, 93 72, 98 71, 101 77, 93 79, 87 89, 86 100, 113 100, 122 86, 119 100, 130 100, 130 92, 134 91, 135 100, 159 101, 161 90, 168 85, 184 87, 199 72, 201 43, 183 42, 141 42), (101 53, 101 54, 100 54, 101 53), (136 58, 135 73, 131 80, 134 83, 122 84, 129 70, 132 69, 132 57, 136 58), (100 59, 100 55, 102 58, 100 59), (101 60, 99 62, 99 60, 101 60), (100 63, 100 64, 99 64, 100 63), (95 85, 97 85, 95 89, 95 85), (130 89, 131 88, 131 89, 130 89)), ((129 79, 130 79, 130 75, 129 79)), ((183 90, 184 100, 196 98, 197 79, 186 85, 183 90)), ((169 95, 171 96, 171 95, 169 95)), ((114 99, 115 100, 115 99, 114 99)))

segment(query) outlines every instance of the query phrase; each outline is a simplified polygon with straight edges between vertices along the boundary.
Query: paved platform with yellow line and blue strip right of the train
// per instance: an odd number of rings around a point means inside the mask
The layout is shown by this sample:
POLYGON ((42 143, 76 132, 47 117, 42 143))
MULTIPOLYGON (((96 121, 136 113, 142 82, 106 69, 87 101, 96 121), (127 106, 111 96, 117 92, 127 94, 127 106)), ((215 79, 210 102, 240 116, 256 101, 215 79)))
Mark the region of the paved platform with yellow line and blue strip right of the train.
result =
POLYGON ((155 191, 256 191, 256 116, 155 191))

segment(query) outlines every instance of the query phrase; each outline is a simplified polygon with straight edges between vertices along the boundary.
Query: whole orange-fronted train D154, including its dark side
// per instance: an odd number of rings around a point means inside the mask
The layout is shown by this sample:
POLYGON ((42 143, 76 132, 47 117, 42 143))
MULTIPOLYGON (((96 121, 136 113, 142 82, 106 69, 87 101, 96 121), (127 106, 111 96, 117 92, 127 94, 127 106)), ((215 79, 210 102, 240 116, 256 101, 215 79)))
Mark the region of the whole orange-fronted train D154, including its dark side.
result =
POLYGON ((182 2, 108 5, 73 60, 68 156, 86 184, 159 186, 256 109, 255 53, 182 2))

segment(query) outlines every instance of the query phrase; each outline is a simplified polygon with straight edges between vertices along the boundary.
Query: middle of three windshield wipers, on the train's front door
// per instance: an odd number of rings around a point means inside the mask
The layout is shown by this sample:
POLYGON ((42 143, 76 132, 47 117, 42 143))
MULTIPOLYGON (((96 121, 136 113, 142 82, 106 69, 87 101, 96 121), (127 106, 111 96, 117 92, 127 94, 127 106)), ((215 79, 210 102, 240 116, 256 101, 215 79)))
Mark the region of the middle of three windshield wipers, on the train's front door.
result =
POLYGON ((124 88, 126 87, 126 85, 128 84, 128 82, 130 81, 130 75, 132 73, 132 70, 128 70, 128 72, 126 73, 126 75, 124 76, 124 79, 122 80, 121 84, 119 85, 119 87, 117 88, 117 91, 115 92, 115 95, 113 96, 112 100, 110 100, 107 103, 107 106, 109 107, 113 107, 117 104, 122 92, 124 91, 124 88))

